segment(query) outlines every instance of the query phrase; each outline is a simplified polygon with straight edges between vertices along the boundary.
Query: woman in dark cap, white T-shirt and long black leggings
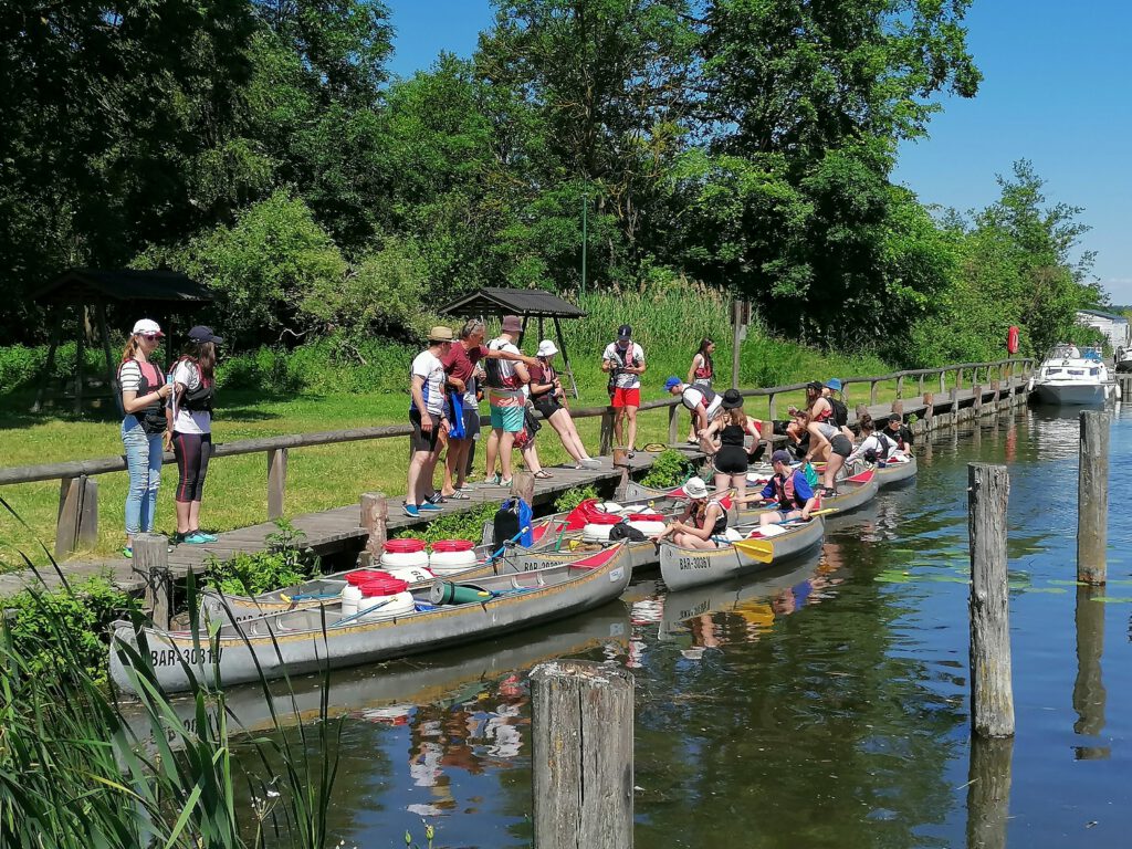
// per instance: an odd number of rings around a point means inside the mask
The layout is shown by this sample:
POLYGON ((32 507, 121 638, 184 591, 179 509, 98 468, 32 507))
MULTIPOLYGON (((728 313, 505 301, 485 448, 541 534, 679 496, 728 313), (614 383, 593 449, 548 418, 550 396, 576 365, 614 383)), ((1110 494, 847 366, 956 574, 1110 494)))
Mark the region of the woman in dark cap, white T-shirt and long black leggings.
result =
POLYGON ((200 530, 200 498, 212 456, 212 410, 216 392, 216 345, 224 340, 198 325, 171 375, 173 455, 177 457, 177 535, 174 542, 203 546, 216 534, 200 530))

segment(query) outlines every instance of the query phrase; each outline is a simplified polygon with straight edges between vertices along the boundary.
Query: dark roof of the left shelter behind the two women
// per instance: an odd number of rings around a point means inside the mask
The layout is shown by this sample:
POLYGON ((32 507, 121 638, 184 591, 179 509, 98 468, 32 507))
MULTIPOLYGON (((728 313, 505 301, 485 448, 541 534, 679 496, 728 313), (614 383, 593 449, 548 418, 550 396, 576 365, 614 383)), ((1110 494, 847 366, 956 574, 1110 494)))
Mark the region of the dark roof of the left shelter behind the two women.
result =
POLYGON ((208 303, 212 293, 180 272, 71 268, 32 295, 35 301, 178 301, 208 303))

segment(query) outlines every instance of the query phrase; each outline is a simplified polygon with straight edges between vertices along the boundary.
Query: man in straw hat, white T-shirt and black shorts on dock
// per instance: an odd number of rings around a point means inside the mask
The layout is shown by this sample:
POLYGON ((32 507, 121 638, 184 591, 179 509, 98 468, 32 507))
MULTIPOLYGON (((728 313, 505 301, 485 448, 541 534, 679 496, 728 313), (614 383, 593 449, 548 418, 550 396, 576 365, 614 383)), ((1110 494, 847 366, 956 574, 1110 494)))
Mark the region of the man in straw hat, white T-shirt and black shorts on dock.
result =
POLYGON ((437 513, 440 505, 432 487, 432 472, 440 456, 439 437, 447 428, 445 418, 445 374, 441 358, 452 348, 452 328, 437 326, 429 331, 428 348, 417 354, 410 369, 409 423, 413 427, 410 445, 409 481, 405 487, 405 515, 417 518, 422 513, 437 513))

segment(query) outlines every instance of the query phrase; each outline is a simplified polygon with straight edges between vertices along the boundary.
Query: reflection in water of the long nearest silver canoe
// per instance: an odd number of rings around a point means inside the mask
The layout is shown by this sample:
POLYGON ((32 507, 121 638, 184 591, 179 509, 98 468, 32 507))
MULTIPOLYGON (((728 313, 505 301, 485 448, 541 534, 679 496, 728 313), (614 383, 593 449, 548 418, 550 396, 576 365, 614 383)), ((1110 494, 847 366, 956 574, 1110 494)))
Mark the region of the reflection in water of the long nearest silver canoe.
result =
MULTIPOLYGON (((379 667, 343 669, 332 674, 326 715, 403 712, 420 704, 446 702, 463 688, 480 692, 482 684, 511 672, 525 672, 542 661, 581 654, 609 642, 617 643, 619 651, 627 651, 628 635, 628 609, 621 601, 612 601, 546 627, 504 635, 490 644, 454 648, 428 658, 394 660, 379 667)), ((255 731, 274 728, 273 711, 282 726, 317 719, 323 695, 323 676, 316 675, 273 686, 271 702, 261 687, 232 687, 224 693, 224 706, 233 728, 255 731)), ((178 719, 194 730, 196 700, 177 698, 172 706, 178 719)), ((140 712, 131 724, 139 732, 144 729, 144 734, 149 734, 149 720, 140 712)))

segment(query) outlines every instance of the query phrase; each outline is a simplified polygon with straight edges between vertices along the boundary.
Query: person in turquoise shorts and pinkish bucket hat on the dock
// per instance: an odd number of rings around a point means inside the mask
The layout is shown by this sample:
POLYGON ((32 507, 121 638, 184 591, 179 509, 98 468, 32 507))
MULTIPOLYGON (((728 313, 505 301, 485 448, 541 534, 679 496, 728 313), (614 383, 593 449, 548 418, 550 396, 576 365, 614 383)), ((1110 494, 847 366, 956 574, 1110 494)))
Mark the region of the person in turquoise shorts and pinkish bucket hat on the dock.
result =
MULTIPOLYGON (((523 332, 518 316, 504 316, 499 335, 488 343, 489 351, 503 351, 522 359, 515 340, 523 332)), ((523 429, 526 414, 526 395, 523 387, 531 381, 531 375, 523 362, 488 359, 484 362, 488 388, 488 405, 491 409, 491 436, 488 437, 487 479, 488 486, 509 487, 512 483, 511 452, 515 435, 523 429), (496 457, 499 470, 495 471, 496 457)))

